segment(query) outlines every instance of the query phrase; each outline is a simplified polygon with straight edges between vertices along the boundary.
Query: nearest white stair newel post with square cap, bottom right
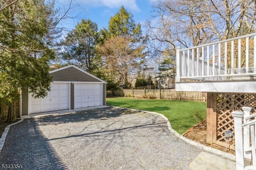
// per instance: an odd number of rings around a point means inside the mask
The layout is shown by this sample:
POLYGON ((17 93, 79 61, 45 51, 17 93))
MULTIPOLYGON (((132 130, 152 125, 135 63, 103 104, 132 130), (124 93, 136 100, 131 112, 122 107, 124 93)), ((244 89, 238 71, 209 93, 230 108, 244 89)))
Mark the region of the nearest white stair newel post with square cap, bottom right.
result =
POLYGON ((242 133, 242 119, 244 112, 242 111, 232 111, 232 116, 234 117, 235 126, 235 141, 236 141, 236 169, 244 169, 244 154, 243 154, 243 133, 242 133))

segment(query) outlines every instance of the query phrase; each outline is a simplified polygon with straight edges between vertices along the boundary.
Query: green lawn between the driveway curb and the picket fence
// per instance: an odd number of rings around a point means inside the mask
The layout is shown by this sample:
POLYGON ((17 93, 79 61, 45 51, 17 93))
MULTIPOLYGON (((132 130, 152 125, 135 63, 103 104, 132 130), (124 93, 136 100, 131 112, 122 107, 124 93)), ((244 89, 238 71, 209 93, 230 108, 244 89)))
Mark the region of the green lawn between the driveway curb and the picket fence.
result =
POLYGON ((107 105, 161 113, 169 119, 172 128, 179 134, 200 122, 195 113, 201 115, 203 119, 206 118, 206 103, 197 101, 117 97, 108 98, 107 105))

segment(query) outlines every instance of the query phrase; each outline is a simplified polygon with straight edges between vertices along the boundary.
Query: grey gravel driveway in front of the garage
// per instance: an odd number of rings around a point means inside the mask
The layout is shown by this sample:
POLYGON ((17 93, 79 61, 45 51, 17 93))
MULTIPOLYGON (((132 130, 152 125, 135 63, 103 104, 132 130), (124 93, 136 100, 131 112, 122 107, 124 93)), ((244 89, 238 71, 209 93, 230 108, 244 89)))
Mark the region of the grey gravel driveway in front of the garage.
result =
POLYGON ((159 115, 104 108, 24 119, 10 127, 0 164, 24 169, 189 169, 202 150, 159 115))

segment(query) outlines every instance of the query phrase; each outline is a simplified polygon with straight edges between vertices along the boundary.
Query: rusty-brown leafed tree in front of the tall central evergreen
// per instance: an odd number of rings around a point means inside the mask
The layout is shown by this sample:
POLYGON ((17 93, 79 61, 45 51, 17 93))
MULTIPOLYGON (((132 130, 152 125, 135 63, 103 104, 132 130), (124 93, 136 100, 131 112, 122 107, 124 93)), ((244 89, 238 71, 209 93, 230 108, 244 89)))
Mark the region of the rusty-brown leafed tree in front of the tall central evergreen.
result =
POLYGON ((140 65, 144 63, 145 46, 138 45, 126 36, 112 37, 99 48, 104 65, 109 73, 116 76, 116 81, 130 87, 140 65))

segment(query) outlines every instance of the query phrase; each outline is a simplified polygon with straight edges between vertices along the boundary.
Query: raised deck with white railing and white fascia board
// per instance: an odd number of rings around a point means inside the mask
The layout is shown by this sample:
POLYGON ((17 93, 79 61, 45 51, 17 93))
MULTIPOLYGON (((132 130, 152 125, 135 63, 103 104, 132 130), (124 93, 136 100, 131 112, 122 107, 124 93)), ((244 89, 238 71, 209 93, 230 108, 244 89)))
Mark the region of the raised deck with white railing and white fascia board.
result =
POLYGON ((176 90, 256 93, 256 33, 176 49, 176 90))

